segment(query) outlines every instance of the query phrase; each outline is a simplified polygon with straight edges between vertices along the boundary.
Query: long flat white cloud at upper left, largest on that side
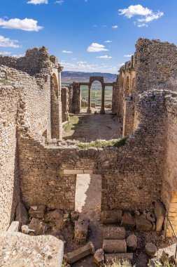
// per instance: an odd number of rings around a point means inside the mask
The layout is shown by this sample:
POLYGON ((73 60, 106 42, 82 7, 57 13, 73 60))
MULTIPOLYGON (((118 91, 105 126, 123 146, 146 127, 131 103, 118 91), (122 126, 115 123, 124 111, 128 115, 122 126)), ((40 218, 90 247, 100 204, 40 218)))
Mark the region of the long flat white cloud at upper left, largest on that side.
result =
POLYGON ((38 32, 43 29, 43 27, 38 26, 38 21, 31 18, 24 18, 20 20, 19 18, 12 18, 10 20, 3 20, 0 18, 0 27, 5 29, 16 29, 23 30, 27 32, 38 32))

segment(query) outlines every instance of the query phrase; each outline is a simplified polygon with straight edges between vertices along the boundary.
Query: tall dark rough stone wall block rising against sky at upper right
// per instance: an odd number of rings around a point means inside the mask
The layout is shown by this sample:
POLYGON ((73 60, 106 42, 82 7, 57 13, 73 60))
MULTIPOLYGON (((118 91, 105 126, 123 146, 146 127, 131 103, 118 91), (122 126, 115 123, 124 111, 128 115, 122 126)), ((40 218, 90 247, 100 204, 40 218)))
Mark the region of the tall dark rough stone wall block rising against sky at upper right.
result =
POLYGON ((160 40, 136 43, 136 90, 170 89, 177 86, 177 48, 160 40))

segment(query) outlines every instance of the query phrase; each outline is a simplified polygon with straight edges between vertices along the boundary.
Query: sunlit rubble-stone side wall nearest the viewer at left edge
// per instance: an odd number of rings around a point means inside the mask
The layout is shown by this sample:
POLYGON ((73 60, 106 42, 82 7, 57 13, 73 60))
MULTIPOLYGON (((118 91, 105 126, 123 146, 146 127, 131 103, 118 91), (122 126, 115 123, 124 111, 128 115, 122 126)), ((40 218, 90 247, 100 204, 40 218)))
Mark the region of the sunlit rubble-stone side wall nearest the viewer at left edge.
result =
POLYGON ((17 86, 0 85, 0 230, 7 230, 20 200, 16 126, 21 94, 17 86))

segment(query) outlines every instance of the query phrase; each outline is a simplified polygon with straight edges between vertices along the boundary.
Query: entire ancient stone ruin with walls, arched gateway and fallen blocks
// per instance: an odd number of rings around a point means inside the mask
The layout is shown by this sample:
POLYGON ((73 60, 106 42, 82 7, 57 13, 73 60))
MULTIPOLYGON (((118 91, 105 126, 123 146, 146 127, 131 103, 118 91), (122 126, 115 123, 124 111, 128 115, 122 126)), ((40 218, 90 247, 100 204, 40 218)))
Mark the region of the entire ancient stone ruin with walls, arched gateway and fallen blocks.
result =
MULTIPOLYGON (((147 266, 139 263, 141 235, 162 241, 177 231, 177 48, 139 39, 113 83, 90 77, 62 87, 61 72, 45 46, 22 58, 0 56, 0 266, 62 266, 63 259, 101 266, 114 258, 147 266), (96 147, 62 140, 69 115, 81 112, 80 86, 88 86, 87 116, 97 116, 95 80, 100 116, 105 86, 113 86, 122 138, 96 147), (85 191, 78 181, 87 181, 85 191)), ((148 238, 146 264, 158 253, 148 238)))

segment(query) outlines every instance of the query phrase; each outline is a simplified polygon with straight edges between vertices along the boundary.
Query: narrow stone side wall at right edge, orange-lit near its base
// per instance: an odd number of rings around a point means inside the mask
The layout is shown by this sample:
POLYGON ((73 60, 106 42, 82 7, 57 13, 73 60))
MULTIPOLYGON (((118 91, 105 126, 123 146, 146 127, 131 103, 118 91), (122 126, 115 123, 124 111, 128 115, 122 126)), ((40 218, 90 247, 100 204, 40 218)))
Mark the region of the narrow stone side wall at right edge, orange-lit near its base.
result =
POLYGON ((169 219, 177 231, 177 93, 167 93, 164 103, 167 110, 167 141, 164 164, 162 201, 169 219))

